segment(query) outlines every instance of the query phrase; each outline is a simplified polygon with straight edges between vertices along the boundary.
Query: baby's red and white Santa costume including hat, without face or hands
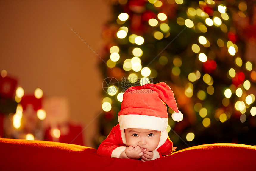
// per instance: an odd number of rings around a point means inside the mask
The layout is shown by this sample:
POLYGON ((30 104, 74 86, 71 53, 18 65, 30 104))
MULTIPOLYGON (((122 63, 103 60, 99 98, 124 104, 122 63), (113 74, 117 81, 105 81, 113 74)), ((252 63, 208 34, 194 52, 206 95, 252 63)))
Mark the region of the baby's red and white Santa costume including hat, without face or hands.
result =
POLYGON ((178 110, 174 94, 166 83, 129 87, 124 92, 121 110, 118 113, 119 124, 112 128, 100 144, 97 153, 119 158, 127 148, 124 129, 141 128, 161 131, 159 144, 152 151, 151 160, 172 154, 173 144, 166 131, 168 113, 165 103, 174 110, 174 121, 181 121, 183 114, 178 110))

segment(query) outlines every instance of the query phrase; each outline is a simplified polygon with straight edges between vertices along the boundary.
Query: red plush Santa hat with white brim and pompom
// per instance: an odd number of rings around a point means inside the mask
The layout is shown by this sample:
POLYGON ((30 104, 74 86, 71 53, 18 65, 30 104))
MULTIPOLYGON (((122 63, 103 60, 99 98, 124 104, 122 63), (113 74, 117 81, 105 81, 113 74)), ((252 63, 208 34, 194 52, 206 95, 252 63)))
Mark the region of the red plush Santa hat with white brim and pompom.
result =
POLYGON ((120 129, 165 131, 168 125, 166 104, 174 110, 173 120, 181 121, 183 114, 178 110, 174 94, 166 83, 129 87, 124 92, 121 110, 118 113, 120 129))

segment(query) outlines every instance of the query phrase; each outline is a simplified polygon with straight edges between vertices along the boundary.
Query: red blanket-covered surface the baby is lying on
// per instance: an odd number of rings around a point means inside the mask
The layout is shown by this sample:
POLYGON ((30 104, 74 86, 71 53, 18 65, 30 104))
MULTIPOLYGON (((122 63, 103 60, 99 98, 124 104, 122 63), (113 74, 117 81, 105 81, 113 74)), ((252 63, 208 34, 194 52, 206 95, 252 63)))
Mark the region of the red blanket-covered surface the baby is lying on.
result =
POLYGON ((146 162, 49 141, 0 138, 0 152, 0 170, 256 170, 256 147, 243 144, 199 145, 146 162))

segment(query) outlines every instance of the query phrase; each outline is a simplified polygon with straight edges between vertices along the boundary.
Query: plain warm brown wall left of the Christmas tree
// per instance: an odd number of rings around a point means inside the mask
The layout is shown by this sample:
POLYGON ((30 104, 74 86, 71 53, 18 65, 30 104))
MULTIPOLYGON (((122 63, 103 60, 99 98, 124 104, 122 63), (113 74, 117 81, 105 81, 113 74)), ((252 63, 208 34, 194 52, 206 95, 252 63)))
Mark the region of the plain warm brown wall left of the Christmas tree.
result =
MULTIPOLYGON (((101 111, 100 58, 68 25, 99 52, 107 2, 13 0, 0 1, 0 9, 0 71, 18 78, 27 94, 41 88, 45 97, 67 97, 72 120, 87 126, 101 111)), ((84 131, 87 146, 96 125, 84 131)))

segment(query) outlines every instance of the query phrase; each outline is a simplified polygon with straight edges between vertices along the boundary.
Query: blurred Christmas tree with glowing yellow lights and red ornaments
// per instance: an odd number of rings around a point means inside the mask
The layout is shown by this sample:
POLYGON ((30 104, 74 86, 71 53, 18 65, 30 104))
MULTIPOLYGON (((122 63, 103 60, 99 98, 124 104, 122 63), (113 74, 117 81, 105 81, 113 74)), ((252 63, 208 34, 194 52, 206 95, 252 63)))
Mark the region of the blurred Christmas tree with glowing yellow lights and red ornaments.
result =
POLYGON ((104 91, 99 145, 117 121, 129 86, 166 82, 184 114, 169 113, 178 150, 206 143, 256 144, 256 72, 246 59, 245 1, 112 0, 99 67, 104 91))

